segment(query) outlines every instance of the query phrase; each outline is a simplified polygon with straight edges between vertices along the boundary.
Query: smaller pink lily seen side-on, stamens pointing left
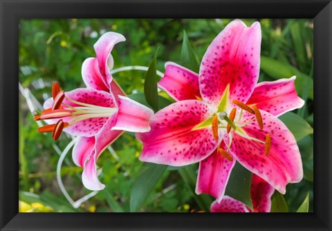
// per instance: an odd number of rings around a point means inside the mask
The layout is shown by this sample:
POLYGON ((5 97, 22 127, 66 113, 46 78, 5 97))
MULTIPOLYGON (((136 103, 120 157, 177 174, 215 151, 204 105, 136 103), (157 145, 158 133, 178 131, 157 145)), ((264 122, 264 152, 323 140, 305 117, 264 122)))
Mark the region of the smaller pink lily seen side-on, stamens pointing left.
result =
POLYGON ((121 34, 107 32, 95 43, 96 58, 88 58, 82 65, 82 77, 87 88, 70 92, 60 91, 53 85, 53 99, 44 103, 44 112, 35 119, 50 119, 51 125, 39 128, 40 132, 53 132, 57 140, 62 130, 80 136, 73 148, 73 161, 84 168, 82 182, 89 190, 102 190, 96 161, 100 154, 122 134, 148 132, 151 109, 125 97, 123 90, 112 79, 111 50, 121 34))

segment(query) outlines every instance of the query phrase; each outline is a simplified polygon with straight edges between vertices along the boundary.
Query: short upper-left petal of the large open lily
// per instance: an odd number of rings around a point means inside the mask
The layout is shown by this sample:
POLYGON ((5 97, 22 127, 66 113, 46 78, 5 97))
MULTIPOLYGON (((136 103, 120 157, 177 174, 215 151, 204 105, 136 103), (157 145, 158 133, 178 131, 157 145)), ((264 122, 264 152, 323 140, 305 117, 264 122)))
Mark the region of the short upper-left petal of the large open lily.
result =
POLYGON ((176 63, 165 63, 165 74, 158 82, 158 87, 176 101, 201 99, 199 74, 176 63))

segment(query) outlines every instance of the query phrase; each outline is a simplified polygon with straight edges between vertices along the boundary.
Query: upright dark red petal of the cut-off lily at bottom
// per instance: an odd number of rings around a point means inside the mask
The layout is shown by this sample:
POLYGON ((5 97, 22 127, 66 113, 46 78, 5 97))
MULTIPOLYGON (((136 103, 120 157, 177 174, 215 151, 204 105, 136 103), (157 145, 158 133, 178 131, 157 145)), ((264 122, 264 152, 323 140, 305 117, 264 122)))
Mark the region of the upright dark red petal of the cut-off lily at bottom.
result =
POLYGON ((250 197, 255 212, 270 212, 273 192, 275 192, 275 189, 271 185, 261 177, 252 174, 250 197))

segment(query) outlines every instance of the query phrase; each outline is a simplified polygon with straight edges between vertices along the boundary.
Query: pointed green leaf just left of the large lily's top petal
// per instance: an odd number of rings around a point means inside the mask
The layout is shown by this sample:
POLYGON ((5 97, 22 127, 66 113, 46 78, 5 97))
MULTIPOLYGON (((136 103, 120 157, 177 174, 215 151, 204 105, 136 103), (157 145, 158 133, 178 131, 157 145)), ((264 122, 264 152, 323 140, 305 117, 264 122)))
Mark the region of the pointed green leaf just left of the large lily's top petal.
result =
POLYGON ((183 30, 183 43, 181 50, 181 64, 193 72, 199 72, 199 63, 197 62, 194 50, 190 45, 187 34, 183 30))

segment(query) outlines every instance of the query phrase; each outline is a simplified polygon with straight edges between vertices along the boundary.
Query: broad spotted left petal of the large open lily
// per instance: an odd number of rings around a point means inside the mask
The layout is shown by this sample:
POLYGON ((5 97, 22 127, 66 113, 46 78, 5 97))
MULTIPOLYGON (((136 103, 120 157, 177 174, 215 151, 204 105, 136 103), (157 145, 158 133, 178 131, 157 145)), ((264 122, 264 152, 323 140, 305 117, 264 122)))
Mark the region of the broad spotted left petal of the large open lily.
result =
POLYGON ((197 128, 212 116, 214 111, 207 103, 185 100, 172 103, 151 118, 151 131, 136 134, 142 141, 140 161, 182 166, 208 157, 221 142, 215 141, 211 125, 197 128))

